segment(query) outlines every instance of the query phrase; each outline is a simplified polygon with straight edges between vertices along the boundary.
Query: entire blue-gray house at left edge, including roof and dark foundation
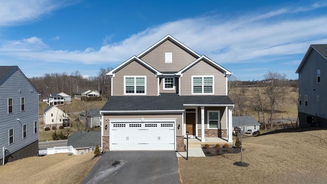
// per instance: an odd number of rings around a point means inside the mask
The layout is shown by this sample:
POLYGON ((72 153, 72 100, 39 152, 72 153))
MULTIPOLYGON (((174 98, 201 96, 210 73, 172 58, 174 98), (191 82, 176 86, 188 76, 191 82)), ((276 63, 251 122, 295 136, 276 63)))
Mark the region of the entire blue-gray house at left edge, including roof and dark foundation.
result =
POLYGON ((38 155, 39 93, 18 66, 0 66, 0 160, 38 155))

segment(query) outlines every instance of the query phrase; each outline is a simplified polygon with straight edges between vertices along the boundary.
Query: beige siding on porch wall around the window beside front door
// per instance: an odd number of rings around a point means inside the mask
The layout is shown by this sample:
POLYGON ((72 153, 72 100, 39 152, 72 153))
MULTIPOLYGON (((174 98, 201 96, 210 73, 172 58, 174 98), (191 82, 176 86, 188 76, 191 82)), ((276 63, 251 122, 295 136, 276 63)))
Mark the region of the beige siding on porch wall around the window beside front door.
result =
MULTIPOLYGON (((220 111, 220 129, 227 129, 227 112, 226 107, 204 107, 204 129, 207 129, 207 111, 219 110, 220 111)), ((198 129, 201 129, 201 107, 198 107, 198 129)))

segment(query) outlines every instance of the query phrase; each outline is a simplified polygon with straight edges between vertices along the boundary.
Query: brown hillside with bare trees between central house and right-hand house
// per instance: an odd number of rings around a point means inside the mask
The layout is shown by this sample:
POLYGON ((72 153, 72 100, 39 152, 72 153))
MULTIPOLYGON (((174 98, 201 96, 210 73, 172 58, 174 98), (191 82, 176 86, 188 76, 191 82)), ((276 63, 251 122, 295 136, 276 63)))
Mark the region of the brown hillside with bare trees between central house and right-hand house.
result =
POLYGON ((287 101, 297 106, 297 96, 288 97, 287 94, 290 91, 298 93, 298 80, 288 80, 286 74, 271 71, 263 77, 264 80, 261 81, 239 81, 231 76, 228 78, 227 91, 235 104, 233 116, 245 116, 254 112, 266 129, 266 123, 269 127, 273 126, 272 120, 279 105, 287 101), (265 114, 269 116, 268 122, 265 122, 265 114))

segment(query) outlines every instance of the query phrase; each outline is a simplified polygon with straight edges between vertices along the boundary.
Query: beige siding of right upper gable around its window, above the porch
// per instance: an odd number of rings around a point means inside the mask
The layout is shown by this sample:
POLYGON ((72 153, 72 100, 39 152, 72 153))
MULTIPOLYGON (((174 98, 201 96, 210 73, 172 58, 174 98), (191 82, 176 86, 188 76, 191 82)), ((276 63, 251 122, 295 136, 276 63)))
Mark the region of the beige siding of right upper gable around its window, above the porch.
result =
POLYGON ((192 95, 192 76, 201 75, 214 75, 215 76, 215 94, 214 95, 227 95, 226 94, 226 77, 224 74, 217 70, 212 65, 204 61, 200 61, 189 70, 183 73, 180 78, 180 95, 192 95))

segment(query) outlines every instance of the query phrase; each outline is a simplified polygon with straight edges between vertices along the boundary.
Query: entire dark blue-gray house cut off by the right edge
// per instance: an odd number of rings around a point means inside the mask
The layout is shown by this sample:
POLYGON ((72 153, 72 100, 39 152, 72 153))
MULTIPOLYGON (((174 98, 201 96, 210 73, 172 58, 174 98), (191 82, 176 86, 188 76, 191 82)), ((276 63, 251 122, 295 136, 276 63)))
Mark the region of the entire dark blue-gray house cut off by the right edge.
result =
POLYGON ((327 44, 310 45, 296 73, 299 126, 327 126, 327 44))

